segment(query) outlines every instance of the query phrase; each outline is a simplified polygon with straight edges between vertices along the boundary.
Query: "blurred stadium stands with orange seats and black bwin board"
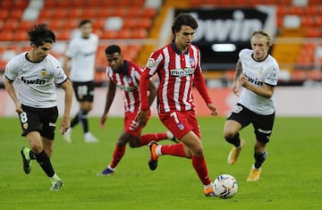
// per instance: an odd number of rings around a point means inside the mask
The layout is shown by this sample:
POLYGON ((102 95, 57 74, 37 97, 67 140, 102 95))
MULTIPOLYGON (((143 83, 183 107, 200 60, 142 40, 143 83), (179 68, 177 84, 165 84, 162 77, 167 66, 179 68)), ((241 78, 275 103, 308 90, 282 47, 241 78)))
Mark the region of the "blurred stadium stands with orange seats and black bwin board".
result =
POLYGON ((104 87, 106 46, 120 45, 125 59, 144 66, 152 51, 172 40, 174 16, 182 12, 199 22, 194 44, 208 88, 230 87, 238 52, 250 47, 254 29, 273 38, 280 87, 322 87, 321 0, 1 0, 0 85, 8 60, 30 49, 27 31, 36 23, 54 30, 51 53, 63 62, 80 20, 90 19, 100 38, 95 82, 104 87))

